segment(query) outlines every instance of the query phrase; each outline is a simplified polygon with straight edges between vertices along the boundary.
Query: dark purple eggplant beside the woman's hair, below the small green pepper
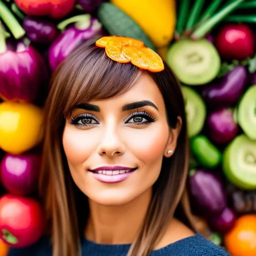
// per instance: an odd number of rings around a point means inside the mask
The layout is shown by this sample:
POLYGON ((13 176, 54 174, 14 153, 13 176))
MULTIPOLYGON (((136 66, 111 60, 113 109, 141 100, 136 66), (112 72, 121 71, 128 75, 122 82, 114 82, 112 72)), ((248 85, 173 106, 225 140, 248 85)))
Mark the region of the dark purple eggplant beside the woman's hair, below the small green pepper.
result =
POLYGON ((226 206, 223 185, 213 173, 203 169, 189 172, 191 200, 202 214, 220 214, 226 206))

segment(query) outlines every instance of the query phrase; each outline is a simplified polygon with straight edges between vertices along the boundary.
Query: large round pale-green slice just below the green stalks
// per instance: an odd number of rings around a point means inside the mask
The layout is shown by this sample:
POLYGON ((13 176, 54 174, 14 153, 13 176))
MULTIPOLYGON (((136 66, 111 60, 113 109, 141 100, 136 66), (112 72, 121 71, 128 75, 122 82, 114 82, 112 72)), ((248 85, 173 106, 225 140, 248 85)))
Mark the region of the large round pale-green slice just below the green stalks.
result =
POLYGON ((178 79, 188 85, 201 85, 214 79, 220 69, 220 57, 207 39, 180 39, 167 51, 167 64, 178 79))

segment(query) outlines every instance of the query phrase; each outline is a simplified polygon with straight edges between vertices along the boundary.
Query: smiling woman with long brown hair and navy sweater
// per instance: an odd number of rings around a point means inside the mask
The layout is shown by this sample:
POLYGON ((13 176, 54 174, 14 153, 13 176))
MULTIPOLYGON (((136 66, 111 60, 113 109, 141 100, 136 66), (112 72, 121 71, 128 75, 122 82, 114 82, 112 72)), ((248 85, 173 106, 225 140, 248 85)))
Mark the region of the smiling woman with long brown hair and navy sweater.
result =
POLYGON ((189 218, 179 83, 115 50, 82 43, 53 74, 40 179, 51 239, 9 255, 228 255, 173 216, 181 205, 189 218))

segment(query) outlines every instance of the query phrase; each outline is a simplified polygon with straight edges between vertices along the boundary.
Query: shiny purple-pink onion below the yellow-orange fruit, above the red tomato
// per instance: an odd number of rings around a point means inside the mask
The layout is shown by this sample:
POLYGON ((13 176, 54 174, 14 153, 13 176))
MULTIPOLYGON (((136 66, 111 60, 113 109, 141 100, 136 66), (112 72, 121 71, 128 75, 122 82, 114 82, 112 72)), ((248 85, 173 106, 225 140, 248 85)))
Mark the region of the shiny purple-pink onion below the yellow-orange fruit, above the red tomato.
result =
POLYGON ((37 187, 39 168, 38 154, 6 154, 0 164, 2 185, 12 194, 28 195, 37 187))

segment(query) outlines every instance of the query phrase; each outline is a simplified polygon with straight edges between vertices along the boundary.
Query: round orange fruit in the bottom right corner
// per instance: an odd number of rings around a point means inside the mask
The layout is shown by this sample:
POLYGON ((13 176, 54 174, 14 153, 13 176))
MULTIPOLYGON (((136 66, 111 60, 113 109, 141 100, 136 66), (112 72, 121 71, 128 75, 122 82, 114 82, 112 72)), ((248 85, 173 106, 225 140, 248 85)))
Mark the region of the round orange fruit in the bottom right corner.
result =
POLYGON ((239 217, 223 237, 226 250, 232 256, 256 255, 256 214, 239 217))

